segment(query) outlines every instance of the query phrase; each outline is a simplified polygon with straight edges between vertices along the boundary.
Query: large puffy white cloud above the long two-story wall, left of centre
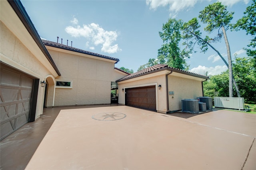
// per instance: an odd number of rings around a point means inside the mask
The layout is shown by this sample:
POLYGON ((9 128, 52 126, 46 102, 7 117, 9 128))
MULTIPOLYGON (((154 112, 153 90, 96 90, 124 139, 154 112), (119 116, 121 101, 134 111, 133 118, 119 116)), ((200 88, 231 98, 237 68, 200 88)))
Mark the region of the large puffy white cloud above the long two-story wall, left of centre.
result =
MULTIPOLYGON (((78 23, 78 20, 73 18, 71 22, 78 23)), ((118 44, 112 45, 116 41, 118 33, 116 31, 106 31, 96 23, 83 25, 82 27, 80 25, 67 26, 65 31, 72 37, 85 37, 89 40, 90 42, 86 42, 86 47, 89 47, 89 43, 92 43, 96 46, 101 45, 101 51, 106 53, 116 53, 122 50, 118 47, 118 44)), ((90 49, 94 49, 94 47, 91 46, 90 49)))

